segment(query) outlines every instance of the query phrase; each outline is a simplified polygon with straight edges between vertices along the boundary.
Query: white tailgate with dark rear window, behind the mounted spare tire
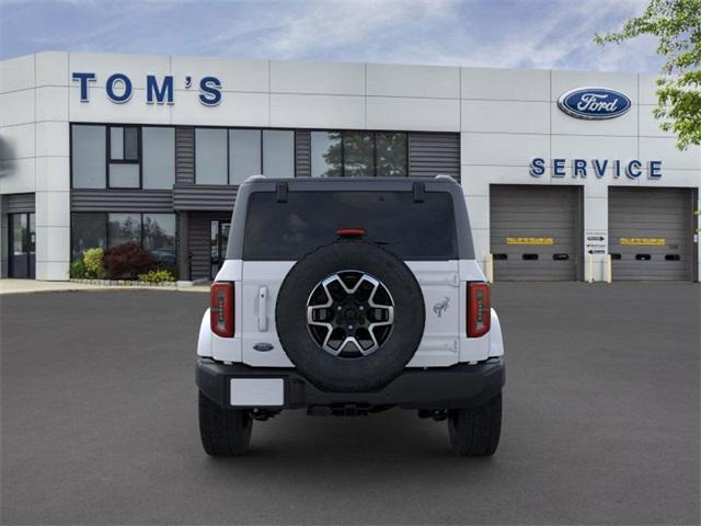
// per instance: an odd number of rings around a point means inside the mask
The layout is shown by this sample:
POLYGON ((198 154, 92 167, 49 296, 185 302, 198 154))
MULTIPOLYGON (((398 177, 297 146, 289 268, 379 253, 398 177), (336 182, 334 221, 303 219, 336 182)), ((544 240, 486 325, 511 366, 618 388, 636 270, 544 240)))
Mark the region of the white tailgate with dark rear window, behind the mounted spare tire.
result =
POLYGON ((248 214, 241 334, 244 363, 291 366, 275 328, 279 287, 296 261, 337 240, 340 228, 365 230, 364 239, 393 252, 416 276, 424 294, 426 325, 410 366, 458 362, 460 281, 449 193, 427 192, 422 202, 415 202, 412 192, 297 191, 280 203, 272 192, 254 192, 248 214), (272 348, 256 350, 261 343, 272 348))

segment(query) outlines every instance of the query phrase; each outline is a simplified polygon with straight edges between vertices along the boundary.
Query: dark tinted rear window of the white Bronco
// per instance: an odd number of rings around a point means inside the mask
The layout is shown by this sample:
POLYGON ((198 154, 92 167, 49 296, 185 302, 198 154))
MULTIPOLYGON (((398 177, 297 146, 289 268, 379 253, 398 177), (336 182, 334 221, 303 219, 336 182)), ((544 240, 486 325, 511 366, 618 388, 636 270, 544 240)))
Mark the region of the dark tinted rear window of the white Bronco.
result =
POLYGON ((452 198, 427 192, 290 192, 277 203, 273 192, 253 192, 243 241, 243 259, 299 260, 337 239, 340 228, 363 228, 364 239, 384 245, 403 260, 458 258, 452 198))

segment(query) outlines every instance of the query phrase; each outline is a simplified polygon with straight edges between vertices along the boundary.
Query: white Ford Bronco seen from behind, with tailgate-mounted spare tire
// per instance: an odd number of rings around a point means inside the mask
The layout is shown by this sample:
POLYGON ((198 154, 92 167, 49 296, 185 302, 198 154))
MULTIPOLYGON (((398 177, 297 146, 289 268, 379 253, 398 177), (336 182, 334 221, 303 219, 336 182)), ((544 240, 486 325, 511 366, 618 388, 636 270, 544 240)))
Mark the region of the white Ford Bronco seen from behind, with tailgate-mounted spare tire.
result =
POLYGON ((242 455, 286 409, 447 420, 499 441, 504 346, 462 190, 435 179, 250 178, 197 342, 207 454, 242 455))

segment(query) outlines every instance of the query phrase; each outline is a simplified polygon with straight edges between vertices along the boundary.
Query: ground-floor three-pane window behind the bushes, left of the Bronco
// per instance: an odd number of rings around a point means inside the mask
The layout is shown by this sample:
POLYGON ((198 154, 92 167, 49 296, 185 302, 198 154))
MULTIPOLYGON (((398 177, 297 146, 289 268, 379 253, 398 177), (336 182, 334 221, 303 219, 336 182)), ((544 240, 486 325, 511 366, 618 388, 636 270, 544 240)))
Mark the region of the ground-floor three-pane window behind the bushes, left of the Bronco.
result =
POLYGON ((88 249, 107 249, 135 241, 148 250, 160 268, 175 271, 177 227, 175 214, 71 215, 71 255, 79 259, 88 249))

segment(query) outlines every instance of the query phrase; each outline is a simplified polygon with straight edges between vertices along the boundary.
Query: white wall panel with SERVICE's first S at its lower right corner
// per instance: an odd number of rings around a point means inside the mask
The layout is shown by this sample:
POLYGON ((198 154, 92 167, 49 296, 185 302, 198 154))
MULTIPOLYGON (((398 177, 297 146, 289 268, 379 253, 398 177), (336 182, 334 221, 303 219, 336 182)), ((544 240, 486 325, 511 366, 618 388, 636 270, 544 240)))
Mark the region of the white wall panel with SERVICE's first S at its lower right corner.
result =
POLYGON ((550 159, 550 137, 463 133, 460 150, 461 164, 528 167, 535 157, 550 159))

